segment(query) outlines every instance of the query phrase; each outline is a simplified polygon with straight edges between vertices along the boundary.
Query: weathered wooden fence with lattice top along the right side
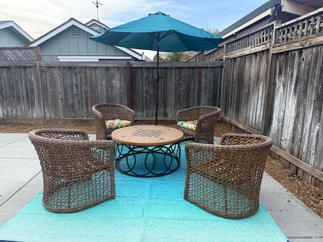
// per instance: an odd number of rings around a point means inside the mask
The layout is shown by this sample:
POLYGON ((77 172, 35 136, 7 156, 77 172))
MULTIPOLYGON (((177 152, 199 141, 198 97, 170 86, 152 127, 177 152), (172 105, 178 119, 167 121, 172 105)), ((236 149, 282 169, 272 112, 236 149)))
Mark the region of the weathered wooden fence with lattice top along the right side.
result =
POLYGON ((323 8, 226 43, 222 119, 323 189, 323 8))

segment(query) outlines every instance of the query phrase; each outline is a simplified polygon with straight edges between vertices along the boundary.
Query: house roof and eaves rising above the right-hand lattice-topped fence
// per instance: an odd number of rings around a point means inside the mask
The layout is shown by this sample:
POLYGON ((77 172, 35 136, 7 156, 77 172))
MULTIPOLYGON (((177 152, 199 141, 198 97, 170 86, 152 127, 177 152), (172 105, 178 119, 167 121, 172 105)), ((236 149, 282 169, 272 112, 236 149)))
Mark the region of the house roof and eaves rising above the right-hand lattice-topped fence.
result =
POLYGON ((323 0, 270 0, 218 35, 224 38, 223 44, 275 20, 285 23, 322 7, 323 0))

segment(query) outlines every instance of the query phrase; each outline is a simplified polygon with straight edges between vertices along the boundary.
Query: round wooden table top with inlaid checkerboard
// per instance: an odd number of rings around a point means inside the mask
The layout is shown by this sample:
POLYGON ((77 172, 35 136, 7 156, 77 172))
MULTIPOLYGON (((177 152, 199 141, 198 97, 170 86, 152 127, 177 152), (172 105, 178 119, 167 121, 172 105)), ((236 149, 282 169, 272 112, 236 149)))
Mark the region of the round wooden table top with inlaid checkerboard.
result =
POLYGON ((180 141, 183 132, 167 126, 135 125, 112 132, 113 140, 127 145, 157 146, 180 141))

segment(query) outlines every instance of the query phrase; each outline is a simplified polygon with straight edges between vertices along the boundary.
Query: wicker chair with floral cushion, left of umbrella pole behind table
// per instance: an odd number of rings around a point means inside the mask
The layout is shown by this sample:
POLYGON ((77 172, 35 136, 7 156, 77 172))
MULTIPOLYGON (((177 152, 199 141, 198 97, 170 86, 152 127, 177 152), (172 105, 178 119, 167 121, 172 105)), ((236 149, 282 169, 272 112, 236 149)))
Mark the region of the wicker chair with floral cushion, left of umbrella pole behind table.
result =
POLYGON ((111 140, 111 133, 116 129, 106 129, 105 121, 113 119, 128 120, 135 124, 135 111, 127 106, 114 103, 96 104, 92 107, 95 120, 96 139, 111 140))

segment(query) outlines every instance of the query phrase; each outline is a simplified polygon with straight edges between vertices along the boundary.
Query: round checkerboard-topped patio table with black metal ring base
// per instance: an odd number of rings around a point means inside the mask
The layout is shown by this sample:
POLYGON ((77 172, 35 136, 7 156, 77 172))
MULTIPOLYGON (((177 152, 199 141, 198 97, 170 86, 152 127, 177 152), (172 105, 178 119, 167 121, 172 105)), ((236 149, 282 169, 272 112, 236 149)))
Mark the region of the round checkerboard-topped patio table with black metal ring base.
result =
POLYGON ((183 132, 177 129, 138 125, 115 130, 116 169, 137 177, 157 177, 180 167, 183 132))

